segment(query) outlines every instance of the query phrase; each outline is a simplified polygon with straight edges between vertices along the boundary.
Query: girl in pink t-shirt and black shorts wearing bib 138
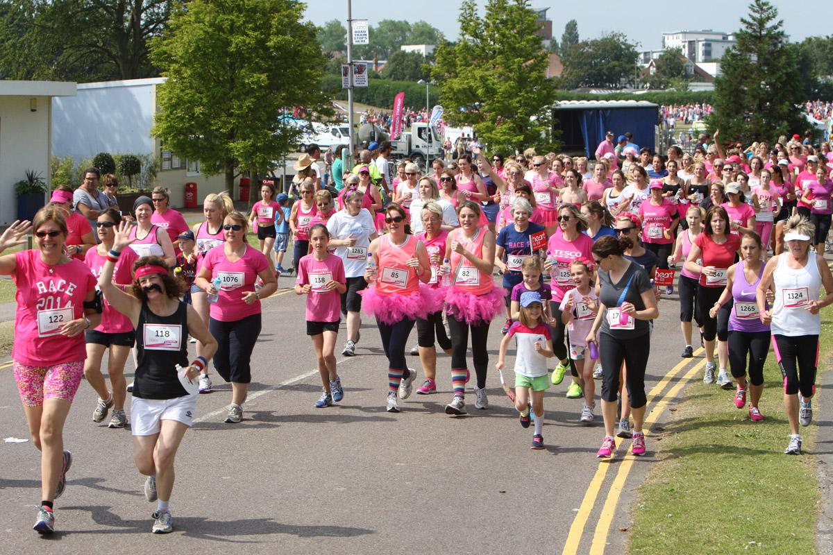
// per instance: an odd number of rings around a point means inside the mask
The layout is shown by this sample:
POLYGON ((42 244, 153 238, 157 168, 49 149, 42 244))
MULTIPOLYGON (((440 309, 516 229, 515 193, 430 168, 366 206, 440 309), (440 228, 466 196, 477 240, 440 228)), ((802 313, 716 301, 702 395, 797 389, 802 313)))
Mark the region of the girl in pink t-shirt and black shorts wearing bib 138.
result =
POLYGON ((307 295, 307 335, 312 337, 324 387, 321 398, 315 404, 317 409, 328 407, 344 397, 342 380, 336 370, 335 349, 338 325, 341 323, 341 295, 347 291, 347 279, 341 257, 327 250, 329 243, 327 227, 313 225, 310 230, 312 254, 299 261, 295 282, 297 295, 307 295))

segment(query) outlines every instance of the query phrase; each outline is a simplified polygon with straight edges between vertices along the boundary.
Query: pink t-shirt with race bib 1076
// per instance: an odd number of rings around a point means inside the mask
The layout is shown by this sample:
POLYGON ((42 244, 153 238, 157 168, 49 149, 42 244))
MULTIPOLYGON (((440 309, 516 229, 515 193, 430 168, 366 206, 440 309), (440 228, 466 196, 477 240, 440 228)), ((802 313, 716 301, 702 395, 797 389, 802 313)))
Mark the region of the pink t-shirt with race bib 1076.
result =
POLYGON ((243 302, 243 295, 255 290, 257 275, 269 267, 266 255, 251 246, 237 262, 230 262, 226 257, 226 245, 219 245, 209 250, 202 260, 202 268, 211 272, 212 281, 220 277, 220 295, 216 303, 211 304, 210 315, 221 322, 236 322, 247 316, 259 314, 261 304, 256 300, 251 305, 243 302))

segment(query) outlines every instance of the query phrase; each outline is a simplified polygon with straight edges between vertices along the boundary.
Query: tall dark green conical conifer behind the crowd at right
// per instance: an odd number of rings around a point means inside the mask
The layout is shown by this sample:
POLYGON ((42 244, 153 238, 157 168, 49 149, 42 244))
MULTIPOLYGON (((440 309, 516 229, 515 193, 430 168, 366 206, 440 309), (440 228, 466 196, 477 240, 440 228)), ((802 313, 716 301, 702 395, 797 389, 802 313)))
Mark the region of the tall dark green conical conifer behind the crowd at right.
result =
POLYGON ((797 107, 802 96, 795 52, 787 47, 784 22, 770 2, 753 0, 741 23, 736 46, 721 59, 708 123, 726 140, 772 144, 806 126, 797 107))

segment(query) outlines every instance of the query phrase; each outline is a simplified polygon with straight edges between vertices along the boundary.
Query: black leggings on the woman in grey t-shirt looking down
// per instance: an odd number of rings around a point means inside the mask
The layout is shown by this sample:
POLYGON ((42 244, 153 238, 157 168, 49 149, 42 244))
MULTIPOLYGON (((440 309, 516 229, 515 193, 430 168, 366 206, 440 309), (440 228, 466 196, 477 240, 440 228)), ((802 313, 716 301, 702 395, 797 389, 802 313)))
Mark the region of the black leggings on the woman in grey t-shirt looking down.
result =
POLYGON ((631 339, 617 339, 609 334, 599 334, 599 359, 601 359, 601 399, 616 402, 619 393, 619 371, 622 361, 627 367, 625 385, 631 399, 631 409, 639 409, 647 403, 645 395, 645 369, 651 354, 651 334, 631 339))

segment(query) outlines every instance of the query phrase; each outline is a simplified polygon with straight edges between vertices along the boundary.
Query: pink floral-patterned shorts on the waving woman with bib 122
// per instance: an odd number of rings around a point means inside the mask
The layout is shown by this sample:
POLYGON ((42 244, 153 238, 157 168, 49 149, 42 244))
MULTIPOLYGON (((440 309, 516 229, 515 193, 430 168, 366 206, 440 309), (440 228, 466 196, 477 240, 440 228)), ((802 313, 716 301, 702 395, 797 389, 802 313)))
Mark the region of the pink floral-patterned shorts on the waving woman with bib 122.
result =
POLYGON ((20 400, 27 407, 39 407, 43 399, 63 399, 72 403, 83 375, 83 360, 54 366, 14 363, 14 380, 20 400))

